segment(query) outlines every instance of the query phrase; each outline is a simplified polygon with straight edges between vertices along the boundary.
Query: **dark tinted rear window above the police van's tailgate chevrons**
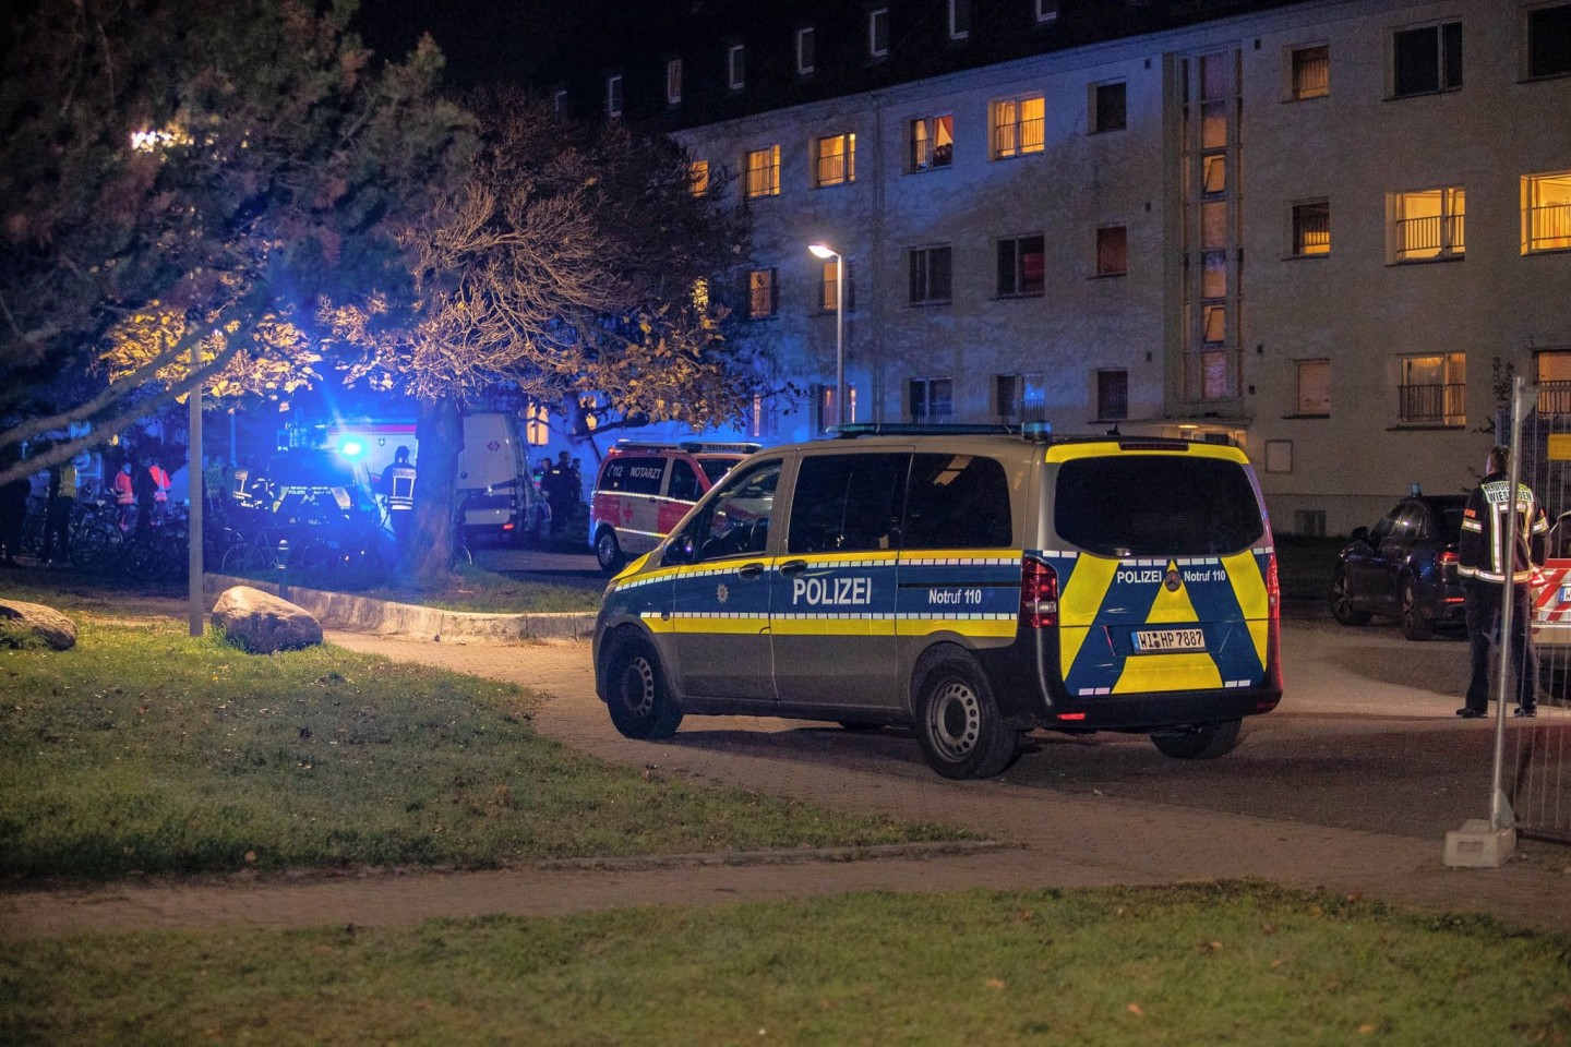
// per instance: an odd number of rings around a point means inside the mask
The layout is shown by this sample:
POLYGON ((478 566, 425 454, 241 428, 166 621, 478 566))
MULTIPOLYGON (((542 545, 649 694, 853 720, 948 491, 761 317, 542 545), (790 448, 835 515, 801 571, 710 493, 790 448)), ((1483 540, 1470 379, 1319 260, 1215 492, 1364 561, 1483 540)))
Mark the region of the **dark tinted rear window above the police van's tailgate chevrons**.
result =
POLYGON ((1235 461, 1117 455, 1059 468, 1053 529, 1100 556, 1218 556, 1258 542, 1265 520, 1235 461))

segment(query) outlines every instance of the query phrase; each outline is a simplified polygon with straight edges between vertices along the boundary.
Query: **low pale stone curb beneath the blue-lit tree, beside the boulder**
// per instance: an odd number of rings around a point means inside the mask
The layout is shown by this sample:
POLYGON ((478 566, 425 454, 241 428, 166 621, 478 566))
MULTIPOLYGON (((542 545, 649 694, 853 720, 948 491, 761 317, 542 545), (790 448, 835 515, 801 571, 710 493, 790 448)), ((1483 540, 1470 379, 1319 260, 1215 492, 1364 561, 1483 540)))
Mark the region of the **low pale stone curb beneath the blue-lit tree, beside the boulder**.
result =
POLYGON ((391 603, 286 586, 229 575, 203 575, 203 593, 215 598, 225 589, 250 586, 302 611, 308 611, 327 629, 374 633, 382 636, 418 636, 423 639, 465 637, 482 640, 588 639, 594 636, 592 611, 542 614, 481 614, 476 611, 441 611, 412 603, 391 603))

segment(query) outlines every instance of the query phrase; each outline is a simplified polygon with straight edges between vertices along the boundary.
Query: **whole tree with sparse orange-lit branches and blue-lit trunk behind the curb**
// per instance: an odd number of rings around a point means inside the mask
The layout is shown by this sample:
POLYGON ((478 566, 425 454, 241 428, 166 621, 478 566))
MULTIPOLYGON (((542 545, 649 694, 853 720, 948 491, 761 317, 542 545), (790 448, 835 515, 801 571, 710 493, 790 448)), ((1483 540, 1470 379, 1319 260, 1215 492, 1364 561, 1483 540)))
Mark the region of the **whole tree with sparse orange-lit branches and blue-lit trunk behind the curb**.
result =
POLYGON ((704 425, 740 418, 757 386, 724 306, 694 294, 735 284, 745 215, 691 192, 680 148, 567 124, 515 91, 471 108, 470 177, 402 235, 408 297, 322 314, 352 383, 416 399, 415 581, 446 571, 460 410, 482 391, 592 392, 617 413, 704 425))

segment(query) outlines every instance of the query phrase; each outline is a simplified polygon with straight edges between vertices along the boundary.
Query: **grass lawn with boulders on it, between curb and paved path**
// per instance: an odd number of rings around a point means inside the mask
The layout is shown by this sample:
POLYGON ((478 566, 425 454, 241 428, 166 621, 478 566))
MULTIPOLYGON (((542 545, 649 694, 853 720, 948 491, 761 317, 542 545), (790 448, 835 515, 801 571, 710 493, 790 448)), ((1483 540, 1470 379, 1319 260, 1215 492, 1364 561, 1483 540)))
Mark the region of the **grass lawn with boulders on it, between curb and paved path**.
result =
POLYGON ((537 735, 534 703, 330 645, 244 655, 184 623, 86 618, 69 651, 0 645, 0 876, 498 866, 968 835, 646 779, 537 735))

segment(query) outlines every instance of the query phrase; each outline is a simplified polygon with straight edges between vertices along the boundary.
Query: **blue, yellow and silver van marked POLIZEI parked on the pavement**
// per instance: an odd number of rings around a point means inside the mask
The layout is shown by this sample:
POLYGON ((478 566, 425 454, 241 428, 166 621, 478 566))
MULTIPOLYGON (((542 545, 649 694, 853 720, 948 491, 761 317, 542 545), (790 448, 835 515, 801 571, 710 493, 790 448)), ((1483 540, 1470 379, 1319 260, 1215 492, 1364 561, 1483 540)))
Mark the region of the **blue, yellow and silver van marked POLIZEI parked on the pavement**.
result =
POLYGON ((850 425, 734 468, 606 587, 595 688, 688 713, 910 727, 950 779, 1032 728, 1219 757, 1282 695, 1260 488, 1232 446, 850 425))

